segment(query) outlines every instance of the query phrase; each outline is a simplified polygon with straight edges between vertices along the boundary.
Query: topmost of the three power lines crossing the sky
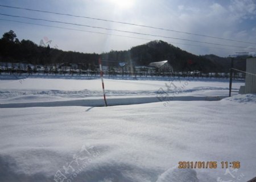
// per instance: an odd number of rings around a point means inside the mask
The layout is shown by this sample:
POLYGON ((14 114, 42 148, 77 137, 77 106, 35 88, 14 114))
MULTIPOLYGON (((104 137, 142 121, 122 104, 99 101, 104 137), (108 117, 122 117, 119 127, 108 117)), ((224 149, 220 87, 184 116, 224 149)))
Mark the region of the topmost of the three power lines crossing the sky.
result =
POLYGON ((143 25, 143 24, 119 22, 119 21, 115 21, 115 20, 108 20, 108 19, 101 19, 101 18, 92 18, 92 17, 90 17, 90 16, 80 16, 80 15, 56 13, 56 12, 53 12, 53 11, 35 10, 35 9, 28 9, 28 8, 23 8, 23 7, 6 6, 6 5, 0 5, 0 6, 2 6, 2 7, 7 7, 7 8, 12 8, 12 9, 21 9, 21 10, 28 10, 28 11, 37 11, 37 12, 41 12, 41 13, 49 13, 49 14, 56 14, 56 15, 73 16, 73 17, 77 17, 77 18, 86 18, 86 19, 101 20, 101 21, 104 21, 104 22, 128 24, 128 25, 132 25, 132 26, 139 26, 139 27, 145 27, 145 28, 153 28, 153 29, 156 29, 156 30, 164 30, 164 31, 171 31, 171 32, 176 32, 176 33, 181 33, 181 34, 188 34, 188 35, 195 35, 195 36, 203 36, 203 37, 212 38, 212 39, 228 40, 228 41, 232 41, 232 42, 239 42, 239 43, 246 43, 246 44, 256 44, 256 43, 252 43, 252 42, 244 42, 244 41, 241 41, 241 40, 226 39, 226 38, 218 38, 218 37, 216 37, 216 36, 209 36, 209 35, 203 35, 203 34, 195 34, 195 33, 191 33, 191 32, 177 31, 177 30, 171 30, 171 29, 167 29, 167 28, 159 28, 159 27, 153 27, 153 26, 146 26, 146 25, 143 25))

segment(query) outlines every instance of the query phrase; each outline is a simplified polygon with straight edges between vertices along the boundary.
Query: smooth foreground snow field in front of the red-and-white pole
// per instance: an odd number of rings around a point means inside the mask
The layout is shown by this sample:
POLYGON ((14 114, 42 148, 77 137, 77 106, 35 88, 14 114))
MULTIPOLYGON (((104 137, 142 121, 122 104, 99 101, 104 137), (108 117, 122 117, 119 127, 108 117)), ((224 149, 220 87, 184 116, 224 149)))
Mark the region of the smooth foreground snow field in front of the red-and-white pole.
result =
POLYGON ((11 171, 41 174, 39 181, 64 173, 83 145, 98 155, 77 180, 185 181, 186 173, 191 181, 216 181, 229 179, 221 161, 240 161, 246 181, 255 176, 254 111, 254 102, 229 100, 1 109, 1 155, 15 161, 11 171), (218 168, 180 172, 179 161, 217 161, 218 168))

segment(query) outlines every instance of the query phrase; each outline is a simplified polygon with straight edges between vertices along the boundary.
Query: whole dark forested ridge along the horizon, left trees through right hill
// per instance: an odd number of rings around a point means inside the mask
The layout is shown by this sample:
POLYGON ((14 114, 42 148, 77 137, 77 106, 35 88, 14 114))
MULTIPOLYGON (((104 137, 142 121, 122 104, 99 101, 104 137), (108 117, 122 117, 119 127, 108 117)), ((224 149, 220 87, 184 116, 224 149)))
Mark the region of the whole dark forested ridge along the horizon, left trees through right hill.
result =
MULTIPOLYGON (((61 51, 49 46, 42 47, 30 40, 19 41, 14 31, 3 34, 0 39, 0 61, 23 62, 31 64, 84 63, 93 68, 98 57, 118 62, 130 62, 133 65, 148 65, 151 62, 168 60, 175 71, 228 72, 230 60, 215 55, 197 56, 162 40, 135 46, 127 51, 110 51, 108 53, 80 53, 61 51)), ((241 64, 240 69, 244 69, 241 64)))

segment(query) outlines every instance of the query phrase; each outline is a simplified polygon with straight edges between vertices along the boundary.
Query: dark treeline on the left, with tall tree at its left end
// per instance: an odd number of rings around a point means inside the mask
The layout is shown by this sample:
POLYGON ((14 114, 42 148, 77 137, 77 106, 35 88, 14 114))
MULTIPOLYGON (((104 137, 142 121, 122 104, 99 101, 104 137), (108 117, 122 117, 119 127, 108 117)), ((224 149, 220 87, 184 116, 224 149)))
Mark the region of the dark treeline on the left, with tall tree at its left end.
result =
POLYGON ((3 34, 0 39, 0 61, 9 63, 30 63, 34 65, 54 65, 57 63, 83 63, 94 67, 98 59, 96 53, 61 51, 56 48, 38 46, 31 40, 16 38, 14 31, 3 34))

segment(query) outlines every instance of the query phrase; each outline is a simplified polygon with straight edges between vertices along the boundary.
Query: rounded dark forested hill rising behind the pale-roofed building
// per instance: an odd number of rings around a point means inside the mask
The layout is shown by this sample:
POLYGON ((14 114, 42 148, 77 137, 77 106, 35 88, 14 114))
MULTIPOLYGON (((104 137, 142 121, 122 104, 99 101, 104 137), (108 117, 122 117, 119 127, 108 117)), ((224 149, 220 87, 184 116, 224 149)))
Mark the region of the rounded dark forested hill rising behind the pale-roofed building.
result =
POLYGON ((168 60, 177 71, 216 72, 221 68, 203 56, 193 55, 161 40, 133 47, 130 52, 140 65, 151 61, 168 60))

